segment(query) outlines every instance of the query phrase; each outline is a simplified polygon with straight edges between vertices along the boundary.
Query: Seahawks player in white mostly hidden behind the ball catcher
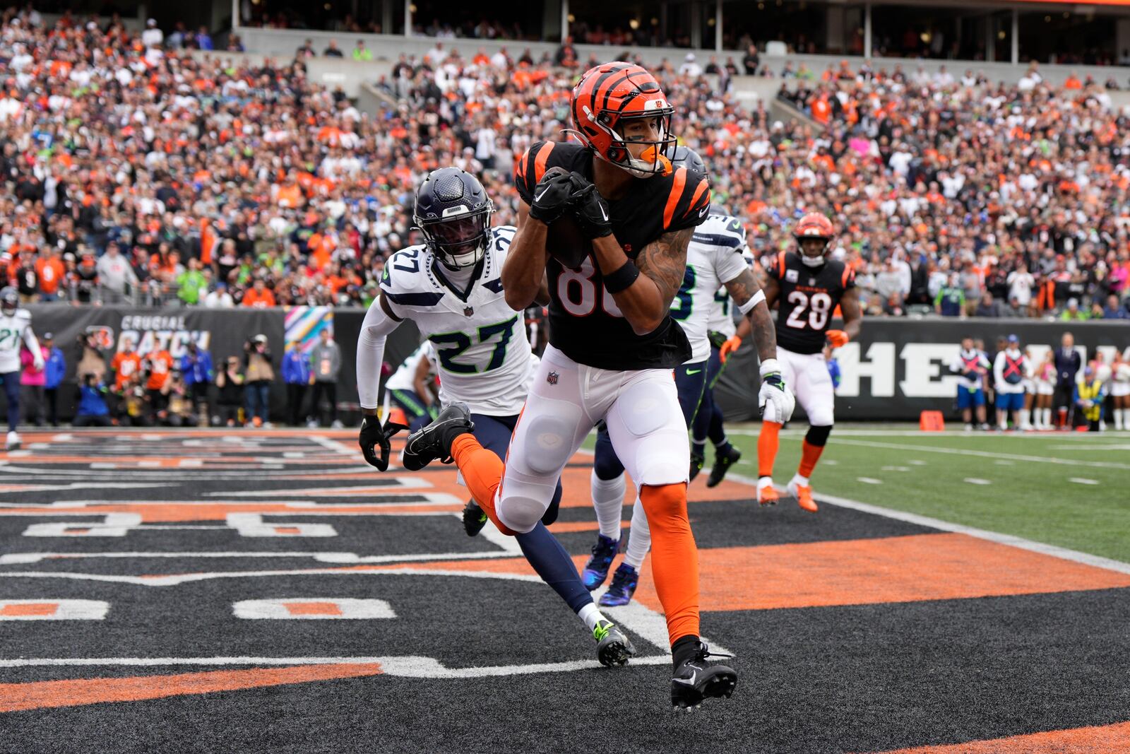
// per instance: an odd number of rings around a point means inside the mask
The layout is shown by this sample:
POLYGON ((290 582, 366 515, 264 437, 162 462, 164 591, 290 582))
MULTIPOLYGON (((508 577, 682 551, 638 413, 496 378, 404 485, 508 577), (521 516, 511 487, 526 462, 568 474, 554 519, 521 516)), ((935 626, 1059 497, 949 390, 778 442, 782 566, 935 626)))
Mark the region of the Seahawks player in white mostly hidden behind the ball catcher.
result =
MULTIPOLYGON (((684 151, 679 148, 679 151, 684 151)), ((689 153, 686 150, 684 154, 689 153)), ((681 159, 688 159, 684 156, 681 159)), ((679 161, 678 156, 676 161, 679 161)), ((728 215, 711 215, 695 228, 687 246, 687 267, 683 276, 683 287, 671 302, 671 319, 677 321, 690 341, 690 359, 675 371, 675 383, 679 392, 679 404, 687 426, 695 422, 696 411, 702 410, 701 399, 706 387, 711 343, 707 337, 711 310, 719 286, 724 286, 728 296, 742 314, 753 320, 757 332, 757 345, 762 355, 763 382, 767 385, 776 364, 776 337, 773 333, 772 314, 764 304, 760 286, 754 277, 746 258, 746 231, 741 222, 728 215)), ((731 326, 732 327, 732 326, 731 326)), ((770 388, 776 390, 776 388, 770 388)), ((784 389, 791 406, 792 397, 784 389)), ((764 393, 760 398, 764 406, 764 393)), ((791 413, 791 408, 789 410, 791 413)), ((692 449, 690 478, 702 468, 702 457, 697 463, 692 449)), ((592 557, 581 573, 584 586, 596 589, 608 578, 616 553, 620 548, 620 515, 624 506, 624 467, 611 450, 606 432, 597 435, 597 450, 590 479, 592 503, 597 509, 600 534, 592 548, 592 557)), ((640 578, 640 566, 651 547, 651 530, 643 505, 636 501, 632 511, 632 536, 628 538, 624 561, 612 574, 608 591, 600 598, 605 606, 626 605, 635 592, 640 578)))

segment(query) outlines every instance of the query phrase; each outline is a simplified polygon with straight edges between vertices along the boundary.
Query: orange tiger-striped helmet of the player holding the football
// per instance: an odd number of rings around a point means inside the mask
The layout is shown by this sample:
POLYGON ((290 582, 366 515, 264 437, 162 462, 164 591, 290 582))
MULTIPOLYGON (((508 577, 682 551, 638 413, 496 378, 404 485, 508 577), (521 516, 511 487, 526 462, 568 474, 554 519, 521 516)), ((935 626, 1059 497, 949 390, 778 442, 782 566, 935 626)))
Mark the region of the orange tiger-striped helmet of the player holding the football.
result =
POLYGON ((573 133, 601 159, 640 177, 670 172, 675 107, 642 66, 617 61, 590 68, 573 88, 570 107, 576 129, 573 133), (658 139, 633 140, 649 145, 638 157, 632 156, 623 132, 624 121, 634 118, 659 118, 658 139))

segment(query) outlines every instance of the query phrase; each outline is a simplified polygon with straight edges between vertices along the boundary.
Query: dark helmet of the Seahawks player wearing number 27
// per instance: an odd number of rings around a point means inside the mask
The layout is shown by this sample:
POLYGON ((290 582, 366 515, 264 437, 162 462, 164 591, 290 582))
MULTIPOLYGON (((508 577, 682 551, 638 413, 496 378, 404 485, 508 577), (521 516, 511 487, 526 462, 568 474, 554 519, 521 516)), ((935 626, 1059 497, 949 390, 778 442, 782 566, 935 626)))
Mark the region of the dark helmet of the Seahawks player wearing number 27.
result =
POLYGON ((473 267, 490 241, 494 205, 477 177, 458 167, 428 173, 416 191, 412 222, 424 243, 451 269, 473 267))

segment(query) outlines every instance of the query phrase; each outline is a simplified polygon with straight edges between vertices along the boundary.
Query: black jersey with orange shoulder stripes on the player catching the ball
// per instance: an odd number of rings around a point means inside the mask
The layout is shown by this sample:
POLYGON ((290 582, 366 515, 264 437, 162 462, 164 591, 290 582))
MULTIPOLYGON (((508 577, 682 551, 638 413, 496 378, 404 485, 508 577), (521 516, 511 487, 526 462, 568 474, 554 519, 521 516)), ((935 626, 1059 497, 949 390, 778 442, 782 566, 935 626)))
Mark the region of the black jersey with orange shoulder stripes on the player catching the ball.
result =
MULTIPOLYGON (((539 141, 514 167, 514 184, 525 203, 533 188, 555 166, 592 180, 592 153, 576 142, 539 141)), ((629 259, 662 234, 694 227, 710 211, 707 177, 687 167, 669 175, 637 180, 631 193, 609 201, 612 233, 629 259)), ((591 254, 580 268, 565 268, 554 257, 549 278, 549 343, 566 356, 602 370, 675 369, 690 358, 690 344, 668 315, 647 335, 636 335, 605 291, 591 254)))

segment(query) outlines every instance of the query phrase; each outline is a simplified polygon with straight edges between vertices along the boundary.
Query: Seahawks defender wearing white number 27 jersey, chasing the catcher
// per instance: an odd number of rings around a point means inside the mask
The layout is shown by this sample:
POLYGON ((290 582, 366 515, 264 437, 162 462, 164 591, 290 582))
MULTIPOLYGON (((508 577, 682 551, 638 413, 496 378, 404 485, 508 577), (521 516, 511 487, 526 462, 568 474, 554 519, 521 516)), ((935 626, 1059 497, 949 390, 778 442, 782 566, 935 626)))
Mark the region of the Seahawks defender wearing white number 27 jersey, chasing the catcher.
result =
MULTIPOLYGON (((385 338, 406 319, 435 348, 440 400, 449 407, 436 422, 449 421, 457 407, 469 408, 475 436, 505 458, 525 402, 532 354, 523 312, 506 304, 499 277, 514 228, 492 228, 493 211, 486 189, 473 175, 457 167, 434 171, 416 192, 412 218, 425 242, 398 251, 384 266, 381 294, 370 305, 357 341, 357 393, 364 414, 358 442, 365 460, 381 471, 389 466, 389 439, 403 428, 380 425, 381 362, 385 338)), ((418 470, 409 458, 401 456, 401 463, 418 470)), ((635 648, 597 609, 568 553, 546 528, 556 520, 559 502, 558 482, 542 521, 519 535, 518 543, 538 575, 592 631, 598 659, 607 666, 624 665, 635 648)), ((464 520, 477 522, 481 511, 469 508, 464 520)))

